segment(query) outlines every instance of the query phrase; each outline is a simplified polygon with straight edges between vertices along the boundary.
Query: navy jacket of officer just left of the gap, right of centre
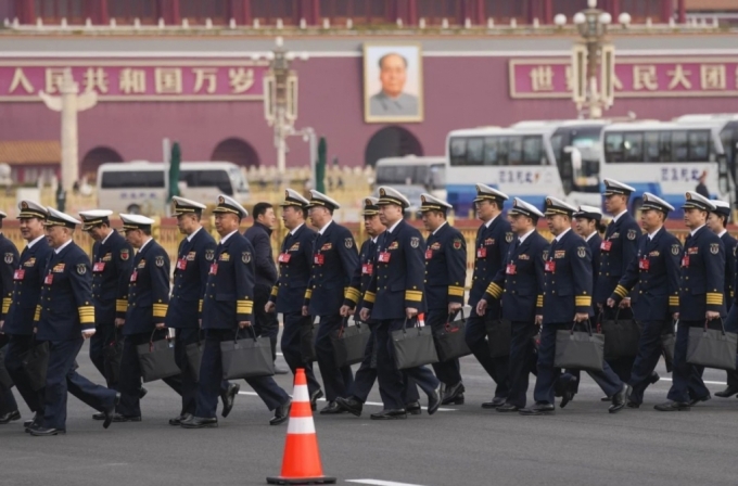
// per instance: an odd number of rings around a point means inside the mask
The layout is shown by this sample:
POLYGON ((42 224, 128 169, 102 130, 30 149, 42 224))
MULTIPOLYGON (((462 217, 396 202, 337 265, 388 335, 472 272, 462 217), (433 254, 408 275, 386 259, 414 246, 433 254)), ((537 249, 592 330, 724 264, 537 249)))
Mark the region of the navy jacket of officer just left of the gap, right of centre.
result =
POLYGON ((467 280, 467 242, 448 222, 425 242, 425 303, 429 310, 446 310, 448 304, 463 304, 467 280))

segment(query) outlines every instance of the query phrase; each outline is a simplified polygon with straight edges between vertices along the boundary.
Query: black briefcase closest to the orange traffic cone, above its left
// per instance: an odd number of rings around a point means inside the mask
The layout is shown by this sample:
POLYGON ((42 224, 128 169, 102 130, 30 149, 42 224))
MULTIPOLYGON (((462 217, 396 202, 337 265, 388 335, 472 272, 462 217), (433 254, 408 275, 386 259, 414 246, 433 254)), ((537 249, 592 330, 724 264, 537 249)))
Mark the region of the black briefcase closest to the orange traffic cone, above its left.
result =
POLYGON ((256 337, 253 325, 247 329, 252 336, 239 340, 237 330, 233 341, 220 343, 224 380, 271 376, 275 374, 271 341, 268 336, 256 337))

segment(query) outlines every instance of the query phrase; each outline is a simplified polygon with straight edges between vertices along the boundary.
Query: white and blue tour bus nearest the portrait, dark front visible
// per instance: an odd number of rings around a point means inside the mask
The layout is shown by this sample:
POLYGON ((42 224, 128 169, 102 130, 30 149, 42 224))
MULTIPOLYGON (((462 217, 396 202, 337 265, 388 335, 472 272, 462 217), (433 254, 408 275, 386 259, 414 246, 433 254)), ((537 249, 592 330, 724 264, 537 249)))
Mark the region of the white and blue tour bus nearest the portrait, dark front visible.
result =
POLYGON ((599 206, 599 140, 608 123, 521 122, 454 130, 446 143, 448 202, 457 214, 467 214, 481 182, 539 208, 547 195, 599 206))

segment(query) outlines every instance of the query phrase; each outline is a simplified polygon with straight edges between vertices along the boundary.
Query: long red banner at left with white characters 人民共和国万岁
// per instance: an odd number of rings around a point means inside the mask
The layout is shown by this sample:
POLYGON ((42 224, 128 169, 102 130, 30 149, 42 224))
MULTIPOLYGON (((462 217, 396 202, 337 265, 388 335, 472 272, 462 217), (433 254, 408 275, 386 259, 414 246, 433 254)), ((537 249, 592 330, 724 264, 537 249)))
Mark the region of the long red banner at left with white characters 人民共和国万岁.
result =
POLYGON ((59 93, 66 67, 100 101, 262 100, 268 69, 252 61, 0 61, 0 102, 59 93))

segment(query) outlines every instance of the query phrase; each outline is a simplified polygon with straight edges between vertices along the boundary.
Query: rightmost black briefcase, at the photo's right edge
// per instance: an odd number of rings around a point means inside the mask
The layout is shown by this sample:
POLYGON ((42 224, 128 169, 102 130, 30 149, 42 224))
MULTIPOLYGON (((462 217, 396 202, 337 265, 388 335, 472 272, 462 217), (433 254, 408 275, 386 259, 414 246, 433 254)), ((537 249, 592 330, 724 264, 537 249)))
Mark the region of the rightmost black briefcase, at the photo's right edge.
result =
POLYGON ((687 362, 718 370, 736 370, 736 349, 738 334, 725 332, 723 319, 718 330, 704 328, 689 328, 689 343, 687 346, 687 362))

